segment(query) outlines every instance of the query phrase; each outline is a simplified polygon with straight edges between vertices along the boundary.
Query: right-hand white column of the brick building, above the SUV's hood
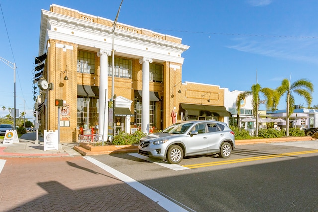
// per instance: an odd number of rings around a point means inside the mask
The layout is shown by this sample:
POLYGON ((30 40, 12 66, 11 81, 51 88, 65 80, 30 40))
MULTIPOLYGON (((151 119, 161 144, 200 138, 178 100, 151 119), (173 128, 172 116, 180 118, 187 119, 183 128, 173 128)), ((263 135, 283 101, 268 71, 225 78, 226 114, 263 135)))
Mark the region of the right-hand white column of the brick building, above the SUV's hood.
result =
POLYGON ((142 91, 142 108, 141 108, 141 131, 143 133, 149 132, 149 63, 152 63, 152 58, 143 57, 139 60, 143 64, 143 91, 142 91))

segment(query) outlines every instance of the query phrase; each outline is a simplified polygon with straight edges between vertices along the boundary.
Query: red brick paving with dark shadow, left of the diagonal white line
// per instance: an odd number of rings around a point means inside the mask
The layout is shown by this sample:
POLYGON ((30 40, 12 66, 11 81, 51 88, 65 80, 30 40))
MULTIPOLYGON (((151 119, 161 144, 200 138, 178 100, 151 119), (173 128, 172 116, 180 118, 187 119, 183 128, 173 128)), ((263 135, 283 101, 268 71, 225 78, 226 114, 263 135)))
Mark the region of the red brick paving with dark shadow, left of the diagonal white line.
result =
POLYGON ((82 157, 0 158, 0 211, 165 211, 82 157))

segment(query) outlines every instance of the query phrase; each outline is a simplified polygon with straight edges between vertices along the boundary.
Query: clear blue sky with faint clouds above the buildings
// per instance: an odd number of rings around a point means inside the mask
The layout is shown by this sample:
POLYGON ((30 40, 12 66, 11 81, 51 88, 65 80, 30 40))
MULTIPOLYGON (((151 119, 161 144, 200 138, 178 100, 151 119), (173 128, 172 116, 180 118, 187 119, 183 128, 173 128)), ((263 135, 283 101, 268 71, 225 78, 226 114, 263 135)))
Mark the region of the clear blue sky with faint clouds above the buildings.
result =
MULTIPOLYGON (((32 70, 41 9, 57 4, 114 20, 121 0, 0 0, 0 57, 15 62, 16 107, 33 117, 32 70), (3 12, 3 13, 2 13, 3 12), (5 21, 5 23, 4 23, 5 21), (6 25, 6 27, 5 27, 6 25)), ((284 78, 314 84, 318 104, 317 0, 124 0, 118 22, 182 38, 182 82, 246 91, 284 78)), ((13 108, 13 69, 0 61, 0 116, 13 108)), ((296 104, 305 100, 295 95, 296 104)), ((285 97, 279 109, 285 109, 285 97)), ((263 108, 264 109, 264 108, 263 108)))

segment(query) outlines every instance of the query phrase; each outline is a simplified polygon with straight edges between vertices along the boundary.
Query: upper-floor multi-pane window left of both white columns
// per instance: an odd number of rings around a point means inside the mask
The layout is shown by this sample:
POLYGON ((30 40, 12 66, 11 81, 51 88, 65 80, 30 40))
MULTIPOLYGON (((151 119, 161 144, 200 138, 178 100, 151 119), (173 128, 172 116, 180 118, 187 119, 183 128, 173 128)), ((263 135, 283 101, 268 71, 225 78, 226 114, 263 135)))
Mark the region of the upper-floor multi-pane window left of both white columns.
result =
POLYGON ((95 53, 78 51, 77 72, 95 74, 95 53))

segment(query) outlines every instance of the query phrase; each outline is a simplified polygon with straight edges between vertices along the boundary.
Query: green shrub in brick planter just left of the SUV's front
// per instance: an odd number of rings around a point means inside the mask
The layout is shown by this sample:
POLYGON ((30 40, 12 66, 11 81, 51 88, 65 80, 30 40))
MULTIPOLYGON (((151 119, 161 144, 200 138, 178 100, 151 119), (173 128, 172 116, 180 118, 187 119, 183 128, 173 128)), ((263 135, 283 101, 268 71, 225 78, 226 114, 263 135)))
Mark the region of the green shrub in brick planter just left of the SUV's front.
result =
POLYGON ((141 131, 136 131, 133 134, 125 133, 123 131, 119 132, 114 136, 113 145, 131 145, 138 144, 139 140, 145 136, 141 131))

